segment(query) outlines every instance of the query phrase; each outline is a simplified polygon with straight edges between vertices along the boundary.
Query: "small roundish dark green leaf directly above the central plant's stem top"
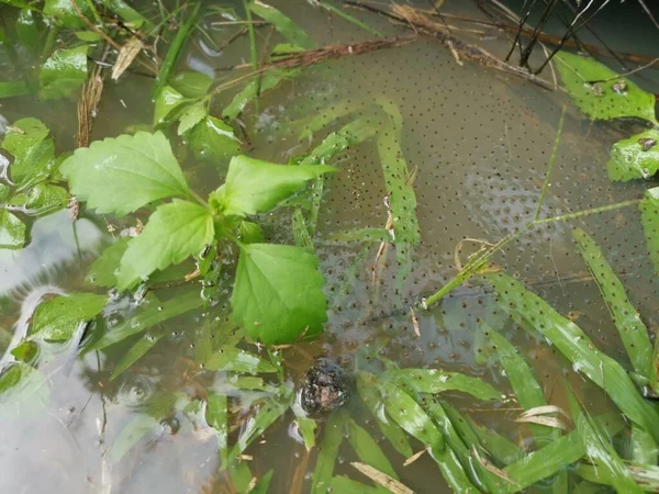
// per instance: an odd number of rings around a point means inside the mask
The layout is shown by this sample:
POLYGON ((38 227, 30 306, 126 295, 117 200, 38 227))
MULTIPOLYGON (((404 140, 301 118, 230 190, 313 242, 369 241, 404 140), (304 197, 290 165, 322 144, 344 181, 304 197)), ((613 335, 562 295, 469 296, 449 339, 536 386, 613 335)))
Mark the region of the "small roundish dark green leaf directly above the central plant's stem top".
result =
POLYGON ((202 161, 223 168, 226 161, 241 153, 241 141, 235 136, 231 125, 214 116, 206 116, 186 136, 194 157, 202 161))

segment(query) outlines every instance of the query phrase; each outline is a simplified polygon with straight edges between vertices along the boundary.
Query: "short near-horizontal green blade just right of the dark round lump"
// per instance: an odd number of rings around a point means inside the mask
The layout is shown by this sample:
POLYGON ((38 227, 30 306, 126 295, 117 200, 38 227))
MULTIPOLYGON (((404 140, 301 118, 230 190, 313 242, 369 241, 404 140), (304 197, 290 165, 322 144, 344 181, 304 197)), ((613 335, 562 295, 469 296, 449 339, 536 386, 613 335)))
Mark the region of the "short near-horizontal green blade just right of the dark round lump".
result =
POLYGON ((444 372, 438 369, 400 369, 391 375, 402 379, 416 392, 438 394, 445 391, 461 391, 479 400, 501 400, 501 392, 491 384, 460 372, 444 372))

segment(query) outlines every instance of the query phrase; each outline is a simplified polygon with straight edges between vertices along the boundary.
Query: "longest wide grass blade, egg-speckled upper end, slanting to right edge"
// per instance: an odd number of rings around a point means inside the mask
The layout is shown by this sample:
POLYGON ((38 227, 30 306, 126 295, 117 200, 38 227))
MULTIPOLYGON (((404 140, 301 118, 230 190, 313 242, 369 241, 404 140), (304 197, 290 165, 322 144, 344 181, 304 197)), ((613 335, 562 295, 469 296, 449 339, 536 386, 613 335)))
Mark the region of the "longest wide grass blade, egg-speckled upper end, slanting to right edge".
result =
POLYGON ((585 374, 602 388, 632 422, 659 440, 659 414, 649 405, 618 362, 596 349, 579 326, 561 316, 547 302, 503 273, 484 274, 494 287, 498 303, 513 318, 528 322, 585 374))

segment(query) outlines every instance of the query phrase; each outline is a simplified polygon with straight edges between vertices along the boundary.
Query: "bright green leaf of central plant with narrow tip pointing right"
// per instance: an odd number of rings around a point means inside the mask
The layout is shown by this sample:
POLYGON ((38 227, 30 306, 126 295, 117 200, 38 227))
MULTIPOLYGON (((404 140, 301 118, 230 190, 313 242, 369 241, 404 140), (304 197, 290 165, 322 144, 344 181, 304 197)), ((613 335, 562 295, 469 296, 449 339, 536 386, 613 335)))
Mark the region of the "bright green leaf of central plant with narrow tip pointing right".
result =
POLYGON ((227 216, 270 211, 301 190, 308 180, 336 171, 324 165, 275 165, 236 156, 228 165, 226 181, 211 194, 211 205, 227 216))

